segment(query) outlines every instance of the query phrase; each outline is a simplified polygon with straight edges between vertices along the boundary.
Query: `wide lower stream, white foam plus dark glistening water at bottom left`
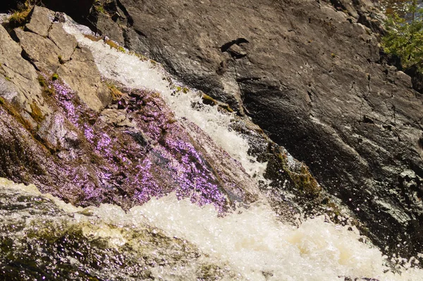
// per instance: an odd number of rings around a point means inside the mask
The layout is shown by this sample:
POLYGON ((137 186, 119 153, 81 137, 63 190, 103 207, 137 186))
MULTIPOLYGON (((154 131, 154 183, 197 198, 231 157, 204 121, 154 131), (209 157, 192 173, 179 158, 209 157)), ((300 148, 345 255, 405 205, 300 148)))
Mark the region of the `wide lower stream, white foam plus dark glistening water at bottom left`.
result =
MULTIPOLYGON (((0 261, 24 263, 37 256, 37 270, 56 277, 411 281, 422 276, 421 269, 409 268, 412 260, 398 266, 399 273, 389 271, 386 257, 360 242, 364 237, 355 227, 327 223, 324 217, 293 227, 260 202, 222 218, 214 206, 178 201, 175 194, 125 212, 110 204, 76 208, 33 185, 4 179, 0 192, 0 227, 8 230, 2 239, 13 245, 3 249, 0 261), (5 205, 8 200, 15 203, 5 205), (56 269, 48 269, 52 264, 56 269)), ((22 273, 32 272, 23 268, 22 273)))

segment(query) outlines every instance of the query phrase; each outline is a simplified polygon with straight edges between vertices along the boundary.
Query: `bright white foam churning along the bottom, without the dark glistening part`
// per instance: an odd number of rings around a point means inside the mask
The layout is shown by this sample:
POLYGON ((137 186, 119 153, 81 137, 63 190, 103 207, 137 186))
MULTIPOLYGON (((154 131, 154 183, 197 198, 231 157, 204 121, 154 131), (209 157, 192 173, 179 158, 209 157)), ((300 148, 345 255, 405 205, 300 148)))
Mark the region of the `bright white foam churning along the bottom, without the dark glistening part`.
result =
MULTIPOLYGON (((359 242, 362 237, 357 230, 327 223, 323 217, 292 227, 281 223, 266 204, 238 208, 219 218, 212 206, 200 207, 188 199, 178 201, 169 194, 125 213, 108 204, 75 208, 54 196, 40 194, 33 185, 14 185, 8 180, 0 179, 0 188, 51 199, 75 218, 74 224, 83 225, 87 239, 105 238, 118 251, 130 244, 128 235, 124 235, 126 230, 137 233, 146 225, 157 227, 168 237, 186 239, 197 246, 208 263, 225 264, 235 272, 235 276, 223 276, 223 280, 329 281, 372 277, 380 281, 415 281, 423 276, 417 268, 400 268, 400 273, 388 271, 381 252, 359 242)), ((195 280, 189 267, 157 268, 152 272, 161 280, 195 280)))

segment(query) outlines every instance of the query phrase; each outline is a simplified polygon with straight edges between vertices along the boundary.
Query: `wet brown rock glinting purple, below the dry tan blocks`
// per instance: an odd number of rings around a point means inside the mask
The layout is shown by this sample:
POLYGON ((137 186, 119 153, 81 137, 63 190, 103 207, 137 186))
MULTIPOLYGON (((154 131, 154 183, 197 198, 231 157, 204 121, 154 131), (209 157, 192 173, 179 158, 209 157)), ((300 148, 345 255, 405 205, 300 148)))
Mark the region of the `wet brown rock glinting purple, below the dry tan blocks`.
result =
POLYGON ((99 114, 60 79, 46 76, 44 83, 51 89, 44 94, 51 95, 46 100, 52 113, 36 128, 18 123, 8 101, 0 106, 2 176, 33 182, 78 206, 109 202, 130 208, 176 192, 221 211, 228 207, 224 180, 157 94, 130 92, 121 109, 115 104, 99 114))

